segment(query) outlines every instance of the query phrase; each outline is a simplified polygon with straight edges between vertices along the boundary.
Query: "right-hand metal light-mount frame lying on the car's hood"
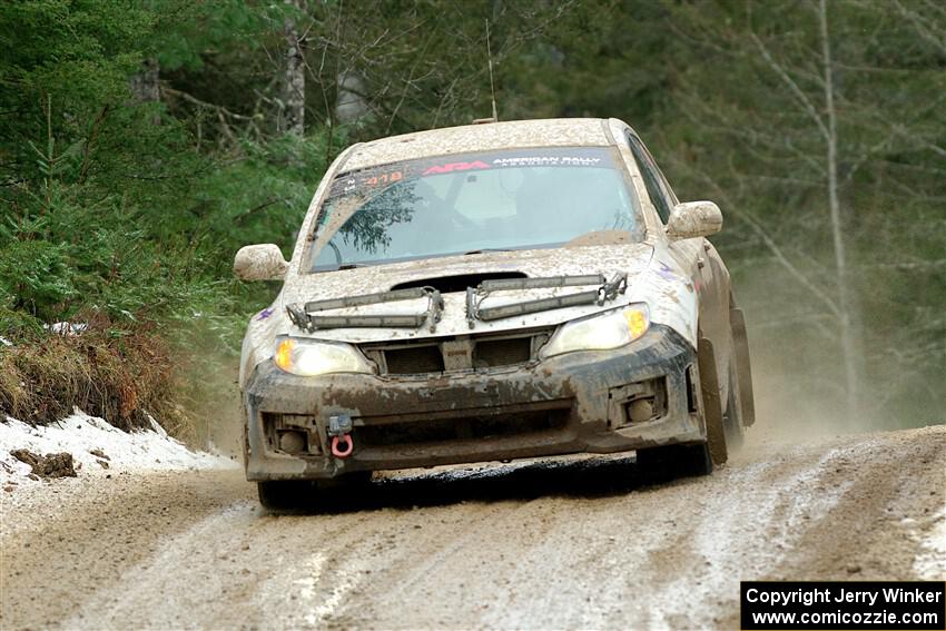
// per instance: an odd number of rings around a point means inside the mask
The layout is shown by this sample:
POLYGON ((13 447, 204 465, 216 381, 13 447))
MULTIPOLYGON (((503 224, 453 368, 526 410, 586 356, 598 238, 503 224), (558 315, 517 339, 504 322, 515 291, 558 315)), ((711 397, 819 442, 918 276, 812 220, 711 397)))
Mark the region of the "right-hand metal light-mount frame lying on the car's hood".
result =
POLYGON ((582 276, 549 276, 543 278, 502 278, 497 280, 483 280, 476 288, 466 288, 466 323, 473 328, 475 321, 490 322, 512 317, 516 315, 533 314, 563 307, 575 307, 582 305, 603 305, 605 300, 613 300, 619 294, 628 289, 628 275, 623 272, 615 274, 608 280, 603 274, 587 274, 582 276), (509 292, 516 289, 535 289, 548 287, 579 287, 599 285, 597 289, 578 292, 564 296, 551 298, 536 298, 511 303, 495 307, 481 307, 483 300, 492 292, 509 292))

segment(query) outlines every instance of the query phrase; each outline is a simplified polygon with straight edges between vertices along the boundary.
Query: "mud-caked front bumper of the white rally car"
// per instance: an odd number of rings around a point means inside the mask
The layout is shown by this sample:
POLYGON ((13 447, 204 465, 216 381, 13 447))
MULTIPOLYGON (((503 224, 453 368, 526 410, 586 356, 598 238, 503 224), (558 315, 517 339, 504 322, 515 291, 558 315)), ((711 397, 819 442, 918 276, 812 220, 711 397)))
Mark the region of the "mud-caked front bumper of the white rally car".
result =
POLYGON ((315 480, 703 442, 698 384, 692 347, 661 325, 613 351, 435 376, 299 377, 267 361, 244 391, 247 479, 315 480), (642 397, 650 397, 653 414, 634 422, 640 413, 629 405, 642 397), (346 459, 327 455, 328 417, 337 414, 354 421, 346 459), (306 436, 304 452, 280 451, 285 428, 306 436))

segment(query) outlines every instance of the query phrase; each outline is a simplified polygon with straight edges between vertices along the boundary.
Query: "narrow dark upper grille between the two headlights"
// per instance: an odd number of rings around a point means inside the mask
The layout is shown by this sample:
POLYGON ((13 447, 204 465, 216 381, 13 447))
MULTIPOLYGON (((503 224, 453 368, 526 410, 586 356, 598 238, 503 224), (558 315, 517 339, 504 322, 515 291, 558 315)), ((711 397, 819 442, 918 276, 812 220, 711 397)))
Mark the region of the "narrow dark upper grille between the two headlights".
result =
POLYGON ((533 328, 503 335, 462 335, 359 347, 383 375, 424 375, 525 364, 535 357, 553 331, 533 328))

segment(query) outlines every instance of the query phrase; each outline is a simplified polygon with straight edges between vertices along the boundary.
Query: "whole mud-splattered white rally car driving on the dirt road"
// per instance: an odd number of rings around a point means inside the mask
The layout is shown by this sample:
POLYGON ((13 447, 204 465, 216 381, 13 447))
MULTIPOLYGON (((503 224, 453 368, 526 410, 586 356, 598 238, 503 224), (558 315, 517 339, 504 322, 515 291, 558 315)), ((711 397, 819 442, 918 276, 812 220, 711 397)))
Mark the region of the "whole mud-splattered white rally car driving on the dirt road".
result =
POLYGON ((247 479, 265 505, 372 471, 637 452, 710 473, 753 421, 711 201, 681 204, 610 119, 434 129, 346 149, 249 323, 247 479))

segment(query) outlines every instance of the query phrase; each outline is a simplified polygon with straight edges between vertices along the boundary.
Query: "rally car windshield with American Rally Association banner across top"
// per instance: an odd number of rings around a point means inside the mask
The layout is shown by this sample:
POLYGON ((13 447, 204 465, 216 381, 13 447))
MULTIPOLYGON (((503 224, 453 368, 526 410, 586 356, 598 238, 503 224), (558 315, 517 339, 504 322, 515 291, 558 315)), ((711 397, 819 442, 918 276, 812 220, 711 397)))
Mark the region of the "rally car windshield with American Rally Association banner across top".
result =
POLYGON ((589 233, 640 240, 639 204, 604 147, 408 160, 338 175, 316 221, 312 272, 555 247, 589 233))

